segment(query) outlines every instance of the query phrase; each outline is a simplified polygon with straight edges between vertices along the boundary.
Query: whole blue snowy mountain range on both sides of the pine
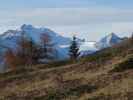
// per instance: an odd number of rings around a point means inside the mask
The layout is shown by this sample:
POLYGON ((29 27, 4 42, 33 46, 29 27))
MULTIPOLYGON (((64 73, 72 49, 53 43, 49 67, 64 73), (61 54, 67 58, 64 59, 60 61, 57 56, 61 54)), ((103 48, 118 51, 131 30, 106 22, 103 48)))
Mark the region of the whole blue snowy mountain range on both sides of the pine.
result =
MULTIPOLYGON (((41 34, 48 34, 51 37, 52 42, 55 44, 55 48, 58 52, 58 59, 62 60, 69 57, 68 51, 71 38, 61 36, 48 28, 36 28, 32 25, 26 24, 22 25, 20 29, 8 30, 0 35, 1 55, 4 54, 5 49, 15 49, 17 47, 17 41, 21 38, 22 33, 24 33, 26 37, 32 38, 32 40, 38 44, 40 43, 41 34)), ((98 42, 90 42, 80 38, 78 38, 77 41, 80 44, 81 56, 84 56, 120 43, 122 38, 118 37, 115 33, 111 33, 98 42)))

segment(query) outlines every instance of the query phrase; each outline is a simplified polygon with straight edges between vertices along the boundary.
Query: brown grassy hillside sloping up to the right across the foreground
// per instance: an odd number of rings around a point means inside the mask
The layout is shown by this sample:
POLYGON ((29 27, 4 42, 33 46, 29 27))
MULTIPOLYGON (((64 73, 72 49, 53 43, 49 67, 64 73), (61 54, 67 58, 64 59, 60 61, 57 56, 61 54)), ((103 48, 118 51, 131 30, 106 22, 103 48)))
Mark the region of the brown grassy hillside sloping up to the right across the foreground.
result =
POLYGON ((133 40, 81 58, 0 74, 0 100, 132 100, 133 40))

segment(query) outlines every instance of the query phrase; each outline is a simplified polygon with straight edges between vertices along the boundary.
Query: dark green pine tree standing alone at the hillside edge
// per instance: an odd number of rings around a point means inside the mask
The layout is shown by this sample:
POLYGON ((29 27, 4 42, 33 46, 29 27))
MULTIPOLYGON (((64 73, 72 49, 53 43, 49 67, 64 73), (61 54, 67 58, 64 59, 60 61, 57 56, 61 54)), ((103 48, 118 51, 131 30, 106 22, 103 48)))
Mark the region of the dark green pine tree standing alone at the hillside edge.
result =
POLYGON ((73 40, 72 40, 72 43, 71 43, 69 49, 70 49, 69 55, 70 55, 71 59, 76 60, 78 58, 78 56, 80 55, 80 52, 79 52, 79 46, 77 43, 77 38, 75 36, 73 36, 73 40))

